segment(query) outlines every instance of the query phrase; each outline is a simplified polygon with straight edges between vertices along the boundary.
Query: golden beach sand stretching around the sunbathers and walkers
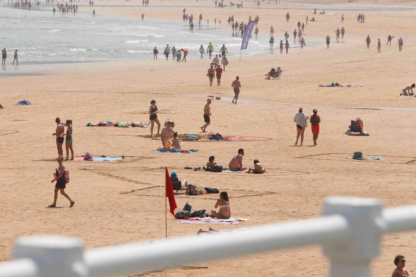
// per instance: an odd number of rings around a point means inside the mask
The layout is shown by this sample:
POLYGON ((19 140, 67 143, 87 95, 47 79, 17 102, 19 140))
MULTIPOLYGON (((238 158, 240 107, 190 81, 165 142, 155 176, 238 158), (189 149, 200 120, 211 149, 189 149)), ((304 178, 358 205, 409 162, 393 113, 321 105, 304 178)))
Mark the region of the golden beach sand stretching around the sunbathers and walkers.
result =
MULTIPOLYGON (((98 2, 96 6, 101 3, 107 4, 98 2)), ((114 5, 114 1, 110 3, 114 5)), ((290 9, 290 3, 285 4, 288 10, 257 10, 254 3, 252 9, 230 10, 204 7, 204 2, 196 7, 193 1, 179 4, 164 1, 163 5, 178 7, 149 7, 145 19, 180 19, 185 3, 190 6, 189 14, 202 12, 210 20, 222 17, 223 25, 228 15, 234 14, 238 21, 247 22, 249 15, 253 18, 258 14, 263 34, 269 32, 270 25, 275 26, 277 33, 288 30, 291 34, 297 20, 302 22, 306 15, 315 16, 318 22, 311 22, 305 29, 306 42, 307 39, 324 42, 329 34, 331 49, 320 44, 302 50, 289 49, 287 55, 274 49, 270 55, 243 56, 241 61, 231 58, 220 87, 208 86, 207 59, 176 63, 162 57, 158 61, 42 65, 32 69, 35 74, 2 76, 1 103, 6 108, 0 110, 0 260, 11 258, 13 242, 20 235, 69 235, 82 239, 86 248, 163 238, 165 166, 194 184, 229 191, 233 216, 251 218, 231 228, 316 217, 321 214, 325 197, 332 195, 374 197, 381 199, 385 207, 415 204, 416 197, 410 192, 414 191, 412 180, 416 172, 413 146, 416 100, 396 97, 414 82, 416 39, 411 29, 414 12, 365 11, 366 22, 358 24, 355 20, 358 12, 346 11, 342 25, 340 11, 333 12, 337 15, 312 15, 311 10, 301 10, 299 5, 290 9), (286 12, 292 16, 290 23, 285 22, 286 12), (334 32, 342 26, 347 29, 345 43, 337 44, 334 32), (372 39, 370 49, 365 45, 367 34, 372 39), (395 38, 391 47, 386 47, 389 34, 395 38), (396 46, 399 37, 405 43, 401 52, 396 46), (382 41, 381 53, 376 50, 377 38, 382 41), (285 70, 281 80, 264 80, 262 74, 272 66, 285 70), (240 99, 251 103, 213 101, 208 130, 271 140, 182 142, 183 148, 199 151, 156 154, 152 151, 161 143, 144 137, 149 135, 149 128, 82 127, 87 121, 97 123, 107 119, 147 121, 150 100, 156 99, 160 120, 175 120, 175 130, 181 134, 199 135, 206 96, 232 98, 230 84, 236 75, 243 86, 240 99), (318 87, 332 81, 363 87, 318 87), (33 105, 12 105, 23 99, 33 105), (305 131, 305 145, 294 146, 293 116, 299 105, 307 115, 312 114, 313 108, 319 110, 322 123, 316 147, 311 147, 310 127, 305 131), (64 162, 71 174, 66 192, 76 202, 73 208, 67 208, 69 201, 60 195, 57 206, 62 208, 47 208, 53 200, 54 185, 50 180, 57 167, 53 161, 57 151, 52 137, 57 116, 73 120, 76 156, 85 152, 126 156, 125 160, 114 162, 64 162), (369 137, 343 134, 355 117, 363 119, 369 137), (183 169, 205 165, 210 155, 215 156, 216 162, 227 165, 238 148, 245 149, 245 166, 259 159, 267 167, 267 173, 213 174, 183 169), (381 155, 385 160, 345 159, 355 151, 381 155), (146 189, 153 186, 158 187, 146 189)), ((262 3, 261 7, 266 5, 262 3)), ((99 13, 137 17, 144 10, 104 6, 95 9, 99 13)), ((224 28, 229 28, 228 24, 224 28)), ((24 72, 25 67, 22 60, 16 72, 24 72)), ((207 211, 215 204, 212 196, 176 198, 180 208, 186 201, 207 211)), ((208 227, 181 225, 168 217, 169 236, 193 235, 200 228, 208 227)), ((372 276, 389 276, 394 269, 392 260, 399 253, 406 256, 411 272, 416 270, 412 262, 416 257, 413 252, 416 243, 412 239, 415 234, 385 236, 382 252, 372 263, 372 276)), ((172 269, 149 276, 325 276, 328 265, 321 248, 315 246, 219 263, 201 262, 198 266, 209 269, 172 269)))

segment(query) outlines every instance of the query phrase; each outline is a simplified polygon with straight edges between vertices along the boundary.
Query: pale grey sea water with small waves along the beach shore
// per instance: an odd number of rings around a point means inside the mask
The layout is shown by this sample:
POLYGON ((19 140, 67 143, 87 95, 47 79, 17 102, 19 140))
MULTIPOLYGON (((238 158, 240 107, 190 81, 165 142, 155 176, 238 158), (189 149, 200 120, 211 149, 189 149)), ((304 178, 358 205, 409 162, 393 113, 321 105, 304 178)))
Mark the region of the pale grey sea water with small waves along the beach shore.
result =
MULTIPOLYGON (((153 59, 155 46, 159 50, 158 57, 163 59, 166 44, 187 49, 189 58, 199 58, 200 45, 206 51, 209 42, 214 45, 214 53, 225 44, 229 57, 240 55, 242 37, 233 34, 226 21, 223 27, 214 26, 214 22, 209 26, 203 22, 198 27, 196 21, 191 32, 188 22, 110 17, 98 12, 92 17, 91 12, 82 12, 84 6, 79 7, 76 15, 62 15, 59 10, 53 15, 52 9, 56 5, 43 2, 41 7, 40 10, 35 4, 32 10, 10 5, 0 7, 0 47, 6 47, 8 59, 12 59, 14 49, 18 49, 20 63, 153 59)), ((267 36, 255 39, 253 32, 243 56, 270 54, 268 40, 267 36)), ((277 38, 275 41, 275 47, 278 47, 277 38)), ((292 44, 291 48, 299 47, 298 43, 292 44)))

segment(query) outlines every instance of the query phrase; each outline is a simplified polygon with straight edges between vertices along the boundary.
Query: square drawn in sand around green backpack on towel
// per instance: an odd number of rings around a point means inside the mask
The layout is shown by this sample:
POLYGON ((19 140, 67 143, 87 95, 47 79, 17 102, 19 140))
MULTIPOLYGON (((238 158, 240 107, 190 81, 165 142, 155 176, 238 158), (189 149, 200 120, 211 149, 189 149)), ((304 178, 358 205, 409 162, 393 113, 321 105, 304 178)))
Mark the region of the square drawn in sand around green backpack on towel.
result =
MULTIPOLYGON (((327 153, 327 154, 316 154, 310 156, 303 156, 299 158, 303 159, 324 159, 330 161, 349 161, 349 162, 377 162, 377 163, 387 163, 387 164, 410 164, 416 161, 416 157, 403 157, 403 156, 384 156, 380 155, 384 158, 384 160, 366 160, 366 161, 357 161, 353 159, 347 159, 347 157, 351 157, 352 153, 345 154, 345 153, 327 153)), ((377 156, 372 154, 363 153, 363 156, 377 156)))

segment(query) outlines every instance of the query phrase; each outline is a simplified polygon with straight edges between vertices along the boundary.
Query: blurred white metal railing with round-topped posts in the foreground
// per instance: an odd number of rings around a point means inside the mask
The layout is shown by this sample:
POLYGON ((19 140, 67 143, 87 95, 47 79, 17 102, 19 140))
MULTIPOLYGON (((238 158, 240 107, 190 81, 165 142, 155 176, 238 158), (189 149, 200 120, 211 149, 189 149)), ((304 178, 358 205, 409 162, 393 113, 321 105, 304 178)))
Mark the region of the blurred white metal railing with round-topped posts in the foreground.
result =
POLYGON ((370 260, 379 254, 381 235, 411 229, 416 229, 416 206, 382 210, 376 199, 329 197, 320 218, 207 235, 204 240, 187 236, 84 251, 74 238, 21 237, 15 243, 13 260, 0 264, 0 276, 117 276, 175 267, 184 260, 192 264, 321 244, 331 260, 330 276, 369 277, 370 260))

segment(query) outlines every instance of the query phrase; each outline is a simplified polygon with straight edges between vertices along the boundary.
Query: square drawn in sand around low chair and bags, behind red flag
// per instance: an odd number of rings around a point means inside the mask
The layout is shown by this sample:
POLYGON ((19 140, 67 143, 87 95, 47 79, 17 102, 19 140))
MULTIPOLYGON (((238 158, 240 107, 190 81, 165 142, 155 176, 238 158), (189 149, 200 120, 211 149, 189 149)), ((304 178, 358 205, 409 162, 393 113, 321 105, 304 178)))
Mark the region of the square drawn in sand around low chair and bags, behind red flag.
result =
MULTIPOLYGON (((242 198, 250 196, 260 196, 275 194, 271 191, 244 191, 244 190, 233 190, 233 189, 219 189, 220 191, 227 191, 228 194, 232 195, 232 198, 242 198)), ((175 191, 173 191, 175 192, 175 191)), ((166 197, 165 196, 165 186, 152 186, 145 189, 136 189, 132 191, 122 192, 121 194, 133 194, 139 196, 156 196, 156 197, 166 197)), ((186 195, 185 191, 182 194, 176 194, 175 198, 196 198, 196 199, 218 199, 220 194, 203 194, 203 195, 186 195)))

